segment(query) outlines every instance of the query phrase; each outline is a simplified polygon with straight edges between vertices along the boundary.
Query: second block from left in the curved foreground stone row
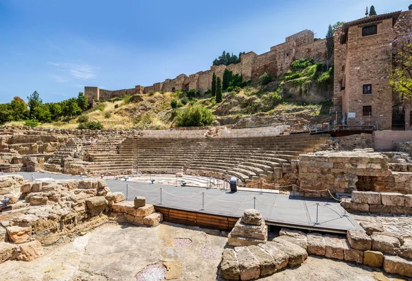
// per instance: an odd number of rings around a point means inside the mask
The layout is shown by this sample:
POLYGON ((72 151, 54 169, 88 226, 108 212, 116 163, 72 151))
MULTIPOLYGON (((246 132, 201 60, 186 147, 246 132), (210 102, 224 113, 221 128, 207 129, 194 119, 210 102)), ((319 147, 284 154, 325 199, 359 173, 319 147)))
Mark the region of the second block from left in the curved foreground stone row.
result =
POLYGON ((247 247, 235 247, 239 262, 240 280, 252 280, 259 278, 259 261, 253 256, 247 247))

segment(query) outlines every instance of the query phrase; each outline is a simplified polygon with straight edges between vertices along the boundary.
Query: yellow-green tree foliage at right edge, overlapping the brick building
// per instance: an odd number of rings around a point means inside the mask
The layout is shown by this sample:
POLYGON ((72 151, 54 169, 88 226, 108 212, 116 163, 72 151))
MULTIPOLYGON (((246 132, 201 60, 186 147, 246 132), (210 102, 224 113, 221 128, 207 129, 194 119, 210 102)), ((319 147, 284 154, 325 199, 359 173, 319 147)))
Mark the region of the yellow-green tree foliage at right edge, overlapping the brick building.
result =
POLYGON ((388 56, 393 57, 396 67, 391 71, 389 83, 393 90, 405 99, 412 99, 412 44, 398 42, 388 56))

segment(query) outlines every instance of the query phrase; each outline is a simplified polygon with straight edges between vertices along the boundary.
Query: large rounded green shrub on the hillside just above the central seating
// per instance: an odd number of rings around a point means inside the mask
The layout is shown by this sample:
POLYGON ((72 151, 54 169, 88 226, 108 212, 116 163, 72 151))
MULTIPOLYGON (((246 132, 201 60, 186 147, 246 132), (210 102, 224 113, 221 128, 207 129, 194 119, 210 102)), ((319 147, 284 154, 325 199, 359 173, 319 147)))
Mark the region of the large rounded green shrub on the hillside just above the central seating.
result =
POLYGON ((178 127, 206 126, 213 122, 214 116, 209 109, 198 104, 183 109, 177 117, 178 127))

